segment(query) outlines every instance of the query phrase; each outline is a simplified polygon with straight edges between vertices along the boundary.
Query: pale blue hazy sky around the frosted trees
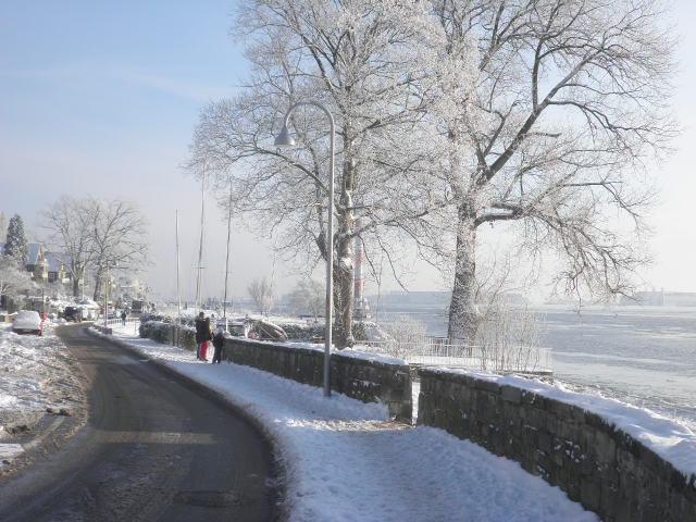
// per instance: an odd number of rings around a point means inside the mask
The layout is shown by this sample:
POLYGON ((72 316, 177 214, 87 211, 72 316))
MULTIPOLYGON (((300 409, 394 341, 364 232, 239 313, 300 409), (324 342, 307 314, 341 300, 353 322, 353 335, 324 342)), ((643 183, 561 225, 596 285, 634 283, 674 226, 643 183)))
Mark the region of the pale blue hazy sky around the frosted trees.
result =
MULTIPOLYGON (((0 2, 0 211, 39 231, 38 211, 59 195, 135 200, 152 222, 149 281, 174 294, 174 211, 182 215, 182 268, 195 264, 198 187, 179 165, 200 108, 234 92, 245 74, 228 37, 233 0, 0 2)), ((652 223, 656 264, 646 284, 696 291, 695 2, 675 2, 681 72, 674 99, 684 134, 656 177, 663 191, 652 223)), ((208 284, 221 294, 224 226, 209 207, 208 284)), ((236 235, 233 294, 270 275, 264 243, 236 235), (257 248, 258 247, 258 248, 257 248)), ((276 278, 288 279, 276 265, 276 278)), ((413 289, 440 288, 432 271, 413 289)), ((281 285, 282 286, 282 285, 281 285)), ((192 291, 192 277, 184 282, 192 291)), ((283 286, 282 286, 283 287, 283 286)))

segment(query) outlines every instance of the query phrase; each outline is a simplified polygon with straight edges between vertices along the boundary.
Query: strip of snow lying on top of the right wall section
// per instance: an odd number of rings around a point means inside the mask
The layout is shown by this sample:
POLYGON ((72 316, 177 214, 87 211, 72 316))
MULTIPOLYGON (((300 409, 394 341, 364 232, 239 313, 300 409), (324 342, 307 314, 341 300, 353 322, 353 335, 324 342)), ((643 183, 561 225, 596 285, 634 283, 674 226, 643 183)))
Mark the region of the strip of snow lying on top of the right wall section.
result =
POLYGON ((686 476, 696 474, 696 434, 688 427, 654 411, 637 408, 617 399, 580 394, 564 389, 562 385, 550 385, 540 381, 514 375, 496 375, 459 369, 433 369, 443 373, 469 375, 498 385, 514 386, 526 391, 556 399, 591 411, 631 435, 662 457, 686 476))

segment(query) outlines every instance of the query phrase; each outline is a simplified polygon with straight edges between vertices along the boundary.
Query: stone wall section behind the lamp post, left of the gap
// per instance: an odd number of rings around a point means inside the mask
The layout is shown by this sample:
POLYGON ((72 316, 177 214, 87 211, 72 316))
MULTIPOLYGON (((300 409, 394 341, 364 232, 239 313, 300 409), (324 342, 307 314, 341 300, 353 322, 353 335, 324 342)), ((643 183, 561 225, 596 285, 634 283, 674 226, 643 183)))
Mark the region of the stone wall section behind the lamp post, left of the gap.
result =
MULTIPOLYGON (((324 385, 323 350, 235 337, 225 339, 223 359, 298 383, 324 385)), ((332 353, 331 388, 363 402, 382 402, 387 406, 390 417, 411 422, 411 375, 406 363, 332 353)))

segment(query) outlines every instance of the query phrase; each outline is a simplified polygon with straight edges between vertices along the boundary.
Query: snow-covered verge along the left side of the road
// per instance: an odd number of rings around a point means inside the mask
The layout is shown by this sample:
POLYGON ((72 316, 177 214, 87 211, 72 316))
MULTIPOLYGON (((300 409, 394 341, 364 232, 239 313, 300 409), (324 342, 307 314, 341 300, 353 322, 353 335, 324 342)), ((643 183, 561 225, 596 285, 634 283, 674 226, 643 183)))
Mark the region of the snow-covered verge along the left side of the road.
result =
POLYGON ((76 371, 52 328, 39 337, 17 335, 9 323, 0 326, 0 468, 23 451, 8 442, 9 430, 30 428, 47 408, 72 410, 82 403, 76 371))

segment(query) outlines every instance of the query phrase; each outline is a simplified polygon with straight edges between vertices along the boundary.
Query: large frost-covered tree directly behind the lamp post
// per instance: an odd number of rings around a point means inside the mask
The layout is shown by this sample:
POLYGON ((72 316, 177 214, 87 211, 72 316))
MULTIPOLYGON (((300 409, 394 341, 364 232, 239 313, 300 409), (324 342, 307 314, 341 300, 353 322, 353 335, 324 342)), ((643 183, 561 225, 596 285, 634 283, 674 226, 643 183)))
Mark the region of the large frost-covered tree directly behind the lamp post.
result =
MULTIPOLYGON (((251 74, 240 94, 211 103, 196 128, 190 165, 232 186, 233 209, 276 233, 288 258, 326 260, 328 122, 314 109, 291 120, 298 147, 273 147, 296 101, 315 100, 336 120, 334 288, 338 347, 352 339, 356 235, 389 248, 381 227, 399 226, 431 203, 419 169, 422 119, 413 84, 430 18, 423 2, 245 0, 235 33, 251 74), (357 217, 363 219, 361 227, 357 217)), ((221 186, 222 185, 222 186, 221 186)), ((225 198, 225 204, 227 204, 225 198)))

